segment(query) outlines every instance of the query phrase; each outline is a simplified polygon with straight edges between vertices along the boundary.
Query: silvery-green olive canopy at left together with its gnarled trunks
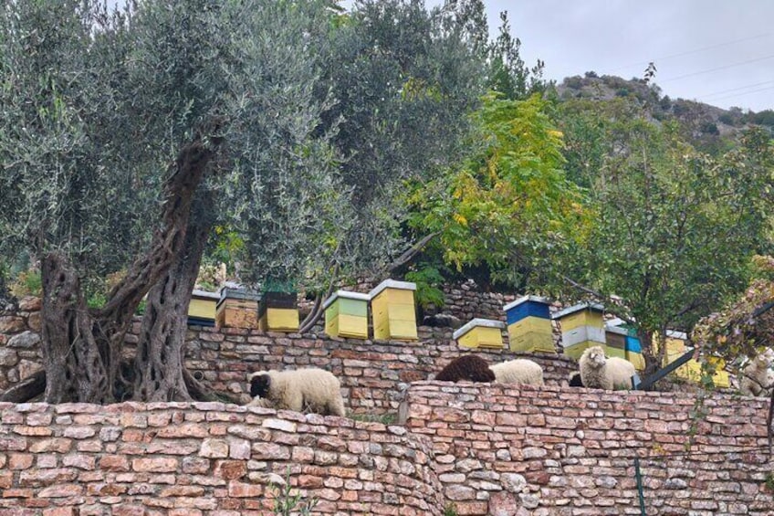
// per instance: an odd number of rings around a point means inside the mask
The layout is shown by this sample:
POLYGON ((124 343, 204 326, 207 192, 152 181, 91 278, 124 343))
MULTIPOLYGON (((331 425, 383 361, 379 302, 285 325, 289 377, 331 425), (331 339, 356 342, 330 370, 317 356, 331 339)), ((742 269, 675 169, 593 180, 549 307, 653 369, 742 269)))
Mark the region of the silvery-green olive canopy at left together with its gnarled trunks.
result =
POLYGON ((187 396, 184 316, 214 226, 254 282, 399 254, 402 181, 459 155, 481 93, 461 29, 416 1, 50 0, 5 5, 0 27, 0 251, 40 262, 48 401, 187 396), (131 380, 123 335, 146 294, 131 380))

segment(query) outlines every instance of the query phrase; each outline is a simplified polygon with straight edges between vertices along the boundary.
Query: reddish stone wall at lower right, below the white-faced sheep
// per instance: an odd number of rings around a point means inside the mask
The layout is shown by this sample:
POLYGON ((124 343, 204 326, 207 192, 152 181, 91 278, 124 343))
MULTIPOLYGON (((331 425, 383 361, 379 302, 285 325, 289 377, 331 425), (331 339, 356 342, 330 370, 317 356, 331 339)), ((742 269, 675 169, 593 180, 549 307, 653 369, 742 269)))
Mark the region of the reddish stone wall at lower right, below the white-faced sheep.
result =
POLYGON ((400 422, 434 443, 460 515, 774 513, 766 399, 419 382, 400 422), (689 445, 693 436, 693 444, 689 445), (769 485, 767 485, 769 484, 769 485))

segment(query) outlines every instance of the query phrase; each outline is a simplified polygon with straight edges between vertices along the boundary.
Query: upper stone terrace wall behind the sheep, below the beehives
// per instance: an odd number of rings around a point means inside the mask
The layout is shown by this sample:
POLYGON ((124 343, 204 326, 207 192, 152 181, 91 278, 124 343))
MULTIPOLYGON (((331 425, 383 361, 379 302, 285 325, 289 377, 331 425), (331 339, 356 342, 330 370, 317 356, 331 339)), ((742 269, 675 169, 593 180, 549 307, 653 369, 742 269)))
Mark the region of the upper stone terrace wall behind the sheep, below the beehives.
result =
MULTIPOLYGON (((417 342, 398 342, 196 328, 189 332, 186 364, 215 391, 244 395, 249 392, 248 372, 321 367, 339 377, 351 413, 394 413, 408 383, 426 380, 453 358, 471 353, 451 341, 450 329, 420 327, 419 333, 417 342)), ((524 356, 507 350, 476 354, 490 363, 524 356)), ((529 358, 543 366, 549 384, 566 384, 567 375, 577 368, 555 353, 529 358)))

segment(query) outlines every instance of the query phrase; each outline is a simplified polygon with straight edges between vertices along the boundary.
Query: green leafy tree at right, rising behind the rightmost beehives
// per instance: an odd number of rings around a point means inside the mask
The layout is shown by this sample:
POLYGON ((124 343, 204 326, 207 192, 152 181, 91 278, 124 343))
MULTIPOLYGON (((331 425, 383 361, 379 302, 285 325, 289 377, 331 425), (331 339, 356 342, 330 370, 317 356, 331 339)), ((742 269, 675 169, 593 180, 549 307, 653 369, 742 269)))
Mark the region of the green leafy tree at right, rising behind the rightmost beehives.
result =
POLYGON ((768 246, 770 198, 761 194, 772 148, 752 130, 711 156, 669 123, 613 108, 569 110, 564 122, 570 170, 597 221, 566 248, 556 280, 635 322, 650 353, 652 335, 690 330, 747 283, 749 258, 768 246))

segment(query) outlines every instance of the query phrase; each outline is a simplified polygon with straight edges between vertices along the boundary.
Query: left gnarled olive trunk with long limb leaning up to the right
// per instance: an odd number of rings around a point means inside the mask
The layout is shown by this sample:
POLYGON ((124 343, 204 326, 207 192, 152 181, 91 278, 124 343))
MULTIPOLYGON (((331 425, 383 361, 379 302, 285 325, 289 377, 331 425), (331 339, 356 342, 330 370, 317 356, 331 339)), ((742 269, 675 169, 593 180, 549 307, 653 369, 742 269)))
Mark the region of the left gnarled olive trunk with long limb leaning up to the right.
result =
POLYGON ((181 252, 193 195, 213 153, 200 140, 179 153, 164 183, 162 224, 153 234, 151 248, 135 260, 104 307, 86 306, 77 269, 68 257, 57 252, 42 257, 41 351, 47 403, 103 404, 123 397, 121 350, 131 318, 181 252))

